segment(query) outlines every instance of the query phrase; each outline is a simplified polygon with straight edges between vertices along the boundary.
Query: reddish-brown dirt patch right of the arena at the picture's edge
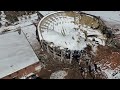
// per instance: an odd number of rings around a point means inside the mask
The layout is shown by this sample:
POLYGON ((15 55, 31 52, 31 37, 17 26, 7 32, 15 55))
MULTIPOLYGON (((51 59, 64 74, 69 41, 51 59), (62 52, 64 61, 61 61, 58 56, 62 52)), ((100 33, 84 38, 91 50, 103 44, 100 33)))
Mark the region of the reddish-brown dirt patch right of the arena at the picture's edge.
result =
POLYGON ((120 50, 108 46, 99 46, 95 62, 99 62, 103 66, 115 69, 120 65, 120 50))

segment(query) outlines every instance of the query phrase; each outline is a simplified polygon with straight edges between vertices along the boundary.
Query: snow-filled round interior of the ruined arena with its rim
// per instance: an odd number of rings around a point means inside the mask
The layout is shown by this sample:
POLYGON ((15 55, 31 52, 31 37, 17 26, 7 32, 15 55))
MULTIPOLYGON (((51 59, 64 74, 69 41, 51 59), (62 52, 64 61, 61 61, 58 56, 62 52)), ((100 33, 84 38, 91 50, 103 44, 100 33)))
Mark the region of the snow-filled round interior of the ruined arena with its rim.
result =
POLYGON ((48 14, 38 25, 40 40, 53 42, 54 45, 50 46, 70 50, 83 50, 87 45, 94 49, 95 43, 105 45, 105 29, 106 26, 99 17, 72 11, 48 14))

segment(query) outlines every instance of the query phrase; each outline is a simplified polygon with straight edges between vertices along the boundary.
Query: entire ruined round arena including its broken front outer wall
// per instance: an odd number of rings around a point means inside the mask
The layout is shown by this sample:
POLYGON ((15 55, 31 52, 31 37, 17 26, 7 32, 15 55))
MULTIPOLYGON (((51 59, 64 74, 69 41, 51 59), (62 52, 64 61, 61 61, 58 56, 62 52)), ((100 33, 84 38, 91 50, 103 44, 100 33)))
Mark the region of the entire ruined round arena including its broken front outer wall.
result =
POLYGON ((38 24, 42 48, 54 58, 71 61, 80 59, 86 48, 93 53, 98 45, 105 46, 106 25, 90 14, 74 11, 59 11, 43 17, 38 24))

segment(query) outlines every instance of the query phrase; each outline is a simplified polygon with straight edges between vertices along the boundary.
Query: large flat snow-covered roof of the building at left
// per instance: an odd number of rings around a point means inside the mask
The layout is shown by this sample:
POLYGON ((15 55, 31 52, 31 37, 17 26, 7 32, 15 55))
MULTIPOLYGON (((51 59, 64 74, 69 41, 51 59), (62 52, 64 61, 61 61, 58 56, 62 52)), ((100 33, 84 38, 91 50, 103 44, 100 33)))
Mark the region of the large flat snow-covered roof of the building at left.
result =
POLYGON ((0 78, 38 61, 23 32, 0 35, 0 78))

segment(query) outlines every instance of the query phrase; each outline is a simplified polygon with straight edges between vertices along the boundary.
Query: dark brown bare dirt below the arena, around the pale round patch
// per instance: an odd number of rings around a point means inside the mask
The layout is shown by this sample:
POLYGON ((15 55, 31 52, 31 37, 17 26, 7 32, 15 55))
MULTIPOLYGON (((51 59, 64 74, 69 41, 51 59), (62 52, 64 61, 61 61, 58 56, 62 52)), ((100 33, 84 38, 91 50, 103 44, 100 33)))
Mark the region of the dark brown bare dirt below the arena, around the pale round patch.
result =
POLYGON ((45 65, 41 71, 39 72, 40 78, 43 79, 50 79, 50 76, 52 73, 64 70, 68 74, 65 76, 65 79, 102 79, 100 74, 96 74, 96 77, 94 76, 94 73, 91 75, 89 72, 87 72, 87 76, 82 76, 80 72, 80 67, 77 62, 72 62, 72 64, 61 62, 58 59, 53 59, 53 56, 46 53, 46 51, 40 51, 40 57, 41 62, 45 65), (47 56, 47 58, 46 58, 47 56))

